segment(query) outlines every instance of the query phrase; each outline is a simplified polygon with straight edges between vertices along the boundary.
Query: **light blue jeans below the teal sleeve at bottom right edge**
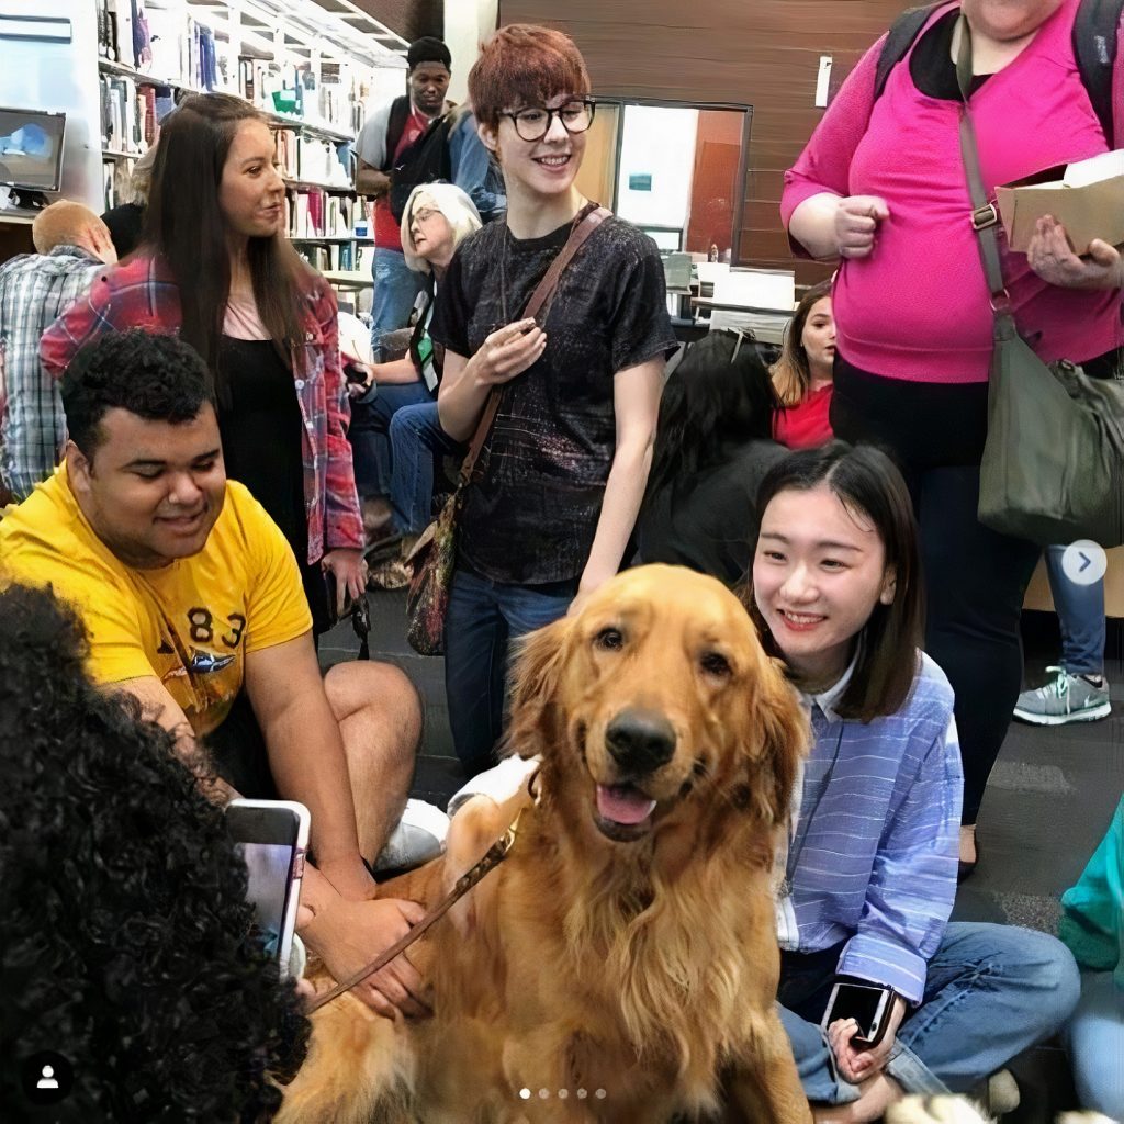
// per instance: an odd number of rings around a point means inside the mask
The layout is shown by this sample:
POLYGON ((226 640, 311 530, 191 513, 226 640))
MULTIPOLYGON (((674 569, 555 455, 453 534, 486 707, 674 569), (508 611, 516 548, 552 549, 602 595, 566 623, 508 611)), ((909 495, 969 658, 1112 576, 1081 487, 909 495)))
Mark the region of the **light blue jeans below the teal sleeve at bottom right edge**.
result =
POLYGON ((1068 1037, 1080 1106, 1124 1120, 1124 991, 1112 972, 1081 972, 1068 1037))

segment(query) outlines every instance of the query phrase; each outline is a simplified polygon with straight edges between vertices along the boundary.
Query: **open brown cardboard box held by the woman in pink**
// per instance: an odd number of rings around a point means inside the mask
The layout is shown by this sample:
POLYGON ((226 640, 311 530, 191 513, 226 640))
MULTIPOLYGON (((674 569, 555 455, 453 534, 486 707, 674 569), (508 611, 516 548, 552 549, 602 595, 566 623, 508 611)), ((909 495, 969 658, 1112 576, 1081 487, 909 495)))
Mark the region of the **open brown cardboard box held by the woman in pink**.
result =
POLYGON ((1124 152, 1048 167, 996 188, 995 194, 1007 243, 1021 253, 1043 215, 1066 227, 1076 254, 1088 253, 1094 238, 1113 246, 1124 243, 1124 152))

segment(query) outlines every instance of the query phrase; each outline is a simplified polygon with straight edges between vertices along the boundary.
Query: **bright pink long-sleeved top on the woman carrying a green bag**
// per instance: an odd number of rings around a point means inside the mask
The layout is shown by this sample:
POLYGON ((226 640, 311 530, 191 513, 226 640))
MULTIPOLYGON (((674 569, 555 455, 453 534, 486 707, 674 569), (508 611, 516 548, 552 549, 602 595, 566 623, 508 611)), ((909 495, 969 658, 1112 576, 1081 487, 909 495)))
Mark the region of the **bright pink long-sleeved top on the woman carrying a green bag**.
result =
MULTIPOLYGON (((1073 58, 1077 6, 1063 0, 1030 46, 971 97, 989 193, 996 184, 1108 151, 1073 58)), ((954 7, 942 6, 927 26, 954 7)), ((872 107, 881 45, 843 83, 786 173, 781 217, 787 227, 797 206, 823 191, 881 196, 890 217, 879 226, 873 253, 844 261, 832 292, 840 353, 890 379, 986 382, 991 308, 969 223, 960 106, 921 93, 907 56, 872 107)), ((1124 112, 1120 105, 1114 109, 1124 112)), ((1016 323, 1043 360, 1082 362, 1124 343, 1118 289, 1050 285, 1025 254, 1006 248, 1003 227, 997 229, 1016 323)))

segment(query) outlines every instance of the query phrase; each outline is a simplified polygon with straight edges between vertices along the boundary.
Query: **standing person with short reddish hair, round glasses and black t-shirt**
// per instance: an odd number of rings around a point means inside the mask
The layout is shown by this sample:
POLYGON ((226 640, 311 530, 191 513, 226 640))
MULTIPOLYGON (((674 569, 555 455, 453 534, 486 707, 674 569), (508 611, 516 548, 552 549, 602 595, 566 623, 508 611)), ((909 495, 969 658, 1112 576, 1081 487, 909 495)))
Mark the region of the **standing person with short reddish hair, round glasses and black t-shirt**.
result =
POLYGON ((574 185, 593 118, 573 42, 501 28, 469 74, 480 137, 508 210, 457 250, 430 327, 445 345, 441 424, 474 433, 499 408, 457 516, 445 618, 445 687, 457 756, 472 774, 502 728, 509 643, 563 616, 617 572, 644 495, 663 366, 676 339, 655 245, 606 219, 553 300, 524 309, 595 205, 574 185))

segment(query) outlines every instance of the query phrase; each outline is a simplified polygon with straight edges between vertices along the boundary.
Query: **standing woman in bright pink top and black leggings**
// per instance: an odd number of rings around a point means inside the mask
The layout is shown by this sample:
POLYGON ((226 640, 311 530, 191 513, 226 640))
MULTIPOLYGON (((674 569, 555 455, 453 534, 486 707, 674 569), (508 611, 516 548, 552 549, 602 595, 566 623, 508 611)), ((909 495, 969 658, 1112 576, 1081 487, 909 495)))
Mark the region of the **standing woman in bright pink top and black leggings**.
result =
MULTIPOLYGON (((971 31, 969 107, 991 192, 1114 147, 1075 60, 1077 8, 950 0, 876 99, 879 42, 786 175, 781 202, 798 250, 842 259, 832 428, 896 453, 921 520, 926 650, 955 690, 963 751, 962 873, 976 861, 980 798, 1018 696, 1019 611, 1040 550, 976 518, 991 309, 960 152, 958 17, 971 31)), ((1120 370, 1120 254, 1095 242, 1075 256, 1052 219, 1040 221, 1026 254, 1009 250, 1001 229, 999 242, 1016 323, 1037 354, 1094 375, 1120 370)))

